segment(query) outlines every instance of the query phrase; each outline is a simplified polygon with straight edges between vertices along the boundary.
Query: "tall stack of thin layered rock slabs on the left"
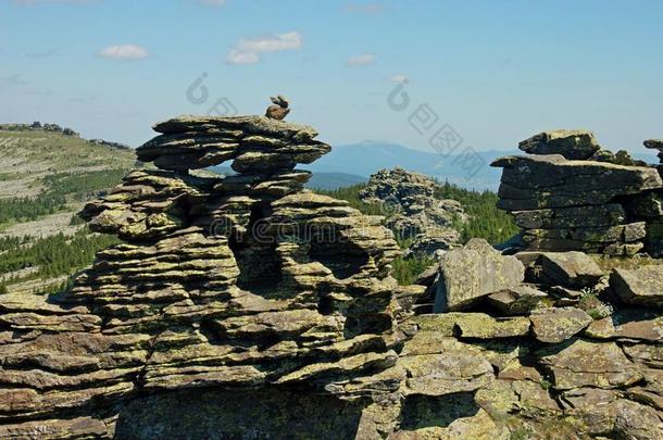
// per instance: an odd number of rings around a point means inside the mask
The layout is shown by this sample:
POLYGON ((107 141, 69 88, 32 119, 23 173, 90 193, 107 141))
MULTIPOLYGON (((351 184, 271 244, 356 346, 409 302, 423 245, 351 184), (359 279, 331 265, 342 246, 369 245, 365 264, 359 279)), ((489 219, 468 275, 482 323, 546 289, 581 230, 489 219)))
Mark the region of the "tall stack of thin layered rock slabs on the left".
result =
MULTIPOLYGON (((259 116, 155 129, 137 154, 162 169, 80 213, 124 242, 58 297, 0 298, 0 438, 112 438, 129 401, 166 390, 395 393, 398 375, 373 375, 402 338, 400 251, 381 217, 302 190, 295 165, 329 146, 259 116), (188 173, 226 160, 239 174, 188 173)), ((134 428, 117 438, 184 436, 134 428)))

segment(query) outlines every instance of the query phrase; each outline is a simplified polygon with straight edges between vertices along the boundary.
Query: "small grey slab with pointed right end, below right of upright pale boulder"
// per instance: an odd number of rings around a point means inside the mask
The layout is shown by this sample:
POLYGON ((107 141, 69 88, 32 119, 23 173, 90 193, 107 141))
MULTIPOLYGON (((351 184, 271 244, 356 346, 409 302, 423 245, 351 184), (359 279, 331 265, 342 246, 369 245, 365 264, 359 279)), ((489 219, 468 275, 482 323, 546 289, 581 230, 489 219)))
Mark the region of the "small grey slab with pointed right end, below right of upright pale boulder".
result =
POLYGON ((583 331, 592 318, 575 307, 542 309, 529 316, 531 332, 545 343, 560 343, 583 331))

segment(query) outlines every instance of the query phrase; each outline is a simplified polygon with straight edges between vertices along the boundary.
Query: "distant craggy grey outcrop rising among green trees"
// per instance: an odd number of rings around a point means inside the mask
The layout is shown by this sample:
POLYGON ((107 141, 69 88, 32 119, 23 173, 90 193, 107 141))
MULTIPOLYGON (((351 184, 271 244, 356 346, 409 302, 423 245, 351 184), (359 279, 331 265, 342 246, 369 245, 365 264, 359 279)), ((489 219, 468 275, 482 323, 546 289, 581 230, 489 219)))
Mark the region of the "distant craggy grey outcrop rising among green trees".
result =
POLYGON ((452 226, 467 221, 458 201, 435 198, 436 188, 431 178, 397 167, 372 175, 360 198, 383 206, 385 225, 398 238, 413 240, 409 253, 433 256, 459 246, 461 237, 452 226))

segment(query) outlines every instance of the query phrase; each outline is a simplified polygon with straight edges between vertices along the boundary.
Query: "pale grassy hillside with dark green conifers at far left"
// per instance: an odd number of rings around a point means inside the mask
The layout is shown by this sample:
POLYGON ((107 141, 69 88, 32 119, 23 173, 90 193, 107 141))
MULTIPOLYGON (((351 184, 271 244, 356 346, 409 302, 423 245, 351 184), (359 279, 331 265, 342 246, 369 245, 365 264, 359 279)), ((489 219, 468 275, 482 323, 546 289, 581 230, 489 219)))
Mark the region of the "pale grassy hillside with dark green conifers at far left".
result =
POLYGON ((0 292, 52 289, 114 242, 73 216, 120 183, 134 152, 47 131, 0 131, 0 292))

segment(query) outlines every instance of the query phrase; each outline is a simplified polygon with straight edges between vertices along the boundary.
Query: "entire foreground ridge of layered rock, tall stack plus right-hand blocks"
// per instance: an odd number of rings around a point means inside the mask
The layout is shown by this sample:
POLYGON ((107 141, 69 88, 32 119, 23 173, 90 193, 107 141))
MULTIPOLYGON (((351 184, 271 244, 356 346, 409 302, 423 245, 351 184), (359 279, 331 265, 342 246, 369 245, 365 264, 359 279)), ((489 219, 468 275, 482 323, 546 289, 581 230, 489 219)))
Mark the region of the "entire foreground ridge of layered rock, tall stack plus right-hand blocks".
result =
POLYGON ((662 437, 660 277, 472 240, 399 287, 381 217, 302 189, 312 128, 155 128, 162 169, 82 212, 124 242, 60 296, 0 296, 0 438, 662 437))

